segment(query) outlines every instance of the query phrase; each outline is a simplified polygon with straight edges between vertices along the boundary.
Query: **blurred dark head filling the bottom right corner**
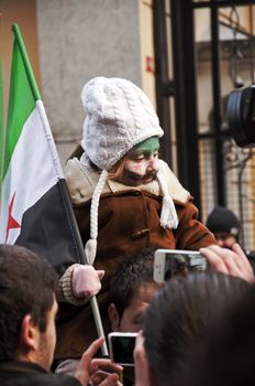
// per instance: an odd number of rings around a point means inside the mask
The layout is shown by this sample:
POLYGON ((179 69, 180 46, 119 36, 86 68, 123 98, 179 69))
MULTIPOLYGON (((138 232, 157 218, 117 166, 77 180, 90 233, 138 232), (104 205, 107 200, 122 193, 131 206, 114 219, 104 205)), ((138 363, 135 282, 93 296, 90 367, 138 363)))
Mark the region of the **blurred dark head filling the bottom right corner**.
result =
POLYGON ((221 318, 213 320, 203 342, 190 353, 178 385, 253 386, 255 384, 254 286, 221 318), (199 365, 198 365, 199 364, 199 365))

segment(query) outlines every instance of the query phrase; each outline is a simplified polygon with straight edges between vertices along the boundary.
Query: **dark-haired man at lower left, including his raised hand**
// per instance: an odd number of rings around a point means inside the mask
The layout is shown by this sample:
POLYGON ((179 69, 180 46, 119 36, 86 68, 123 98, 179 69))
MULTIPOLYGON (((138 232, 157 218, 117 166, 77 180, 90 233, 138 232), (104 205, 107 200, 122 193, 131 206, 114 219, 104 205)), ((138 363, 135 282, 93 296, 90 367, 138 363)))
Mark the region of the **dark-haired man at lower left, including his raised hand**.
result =
POLYGON ((75 377, 49 372, 56 344, 57 274, 31 250, 0 245, 0 384, 5 385, 120 385, 122 368, 108 360, 92 360, 103 340, 82 355, 75 377), (104 361, 104 362, 103 362, 104 361))

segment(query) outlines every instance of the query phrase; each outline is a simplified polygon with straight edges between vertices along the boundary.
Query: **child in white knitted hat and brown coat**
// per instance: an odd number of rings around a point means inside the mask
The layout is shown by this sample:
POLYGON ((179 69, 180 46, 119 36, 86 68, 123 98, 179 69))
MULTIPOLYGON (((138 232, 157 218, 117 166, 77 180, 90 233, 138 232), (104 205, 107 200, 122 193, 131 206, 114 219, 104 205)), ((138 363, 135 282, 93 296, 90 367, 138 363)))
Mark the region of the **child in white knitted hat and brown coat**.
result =
MULTIPOLYGON (((96 77, 81 100, 81 154, 67 162, 65 176, 87 260, 106 271, 98 303, 108 333, 110 279, 121 261, 151 245, 198 250, 217 242, 198 221, 189 192, 158 158, 164 132, 142 89, 126 79, 96 77)), ((78 358, 96 337, 89 303, 69 297, 74 269, 60 279, 66 302, 59 307, 56 360, 78 358)))

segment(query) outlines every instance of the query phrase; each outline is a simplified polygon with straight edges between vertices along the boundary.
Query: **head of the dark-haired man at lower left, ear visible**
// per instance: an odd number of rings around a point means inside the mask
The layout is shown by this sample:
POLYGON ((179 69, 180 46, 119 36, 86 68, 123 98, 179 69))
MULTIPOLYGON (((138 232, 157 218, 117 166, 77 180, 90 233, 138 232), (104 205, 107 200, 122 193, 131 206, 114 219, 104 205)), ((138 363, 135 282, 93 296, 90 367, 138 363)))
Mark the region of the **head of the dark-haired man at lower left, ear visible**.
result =
POLYGON ((0 246, 0 360, 49 369, 56 343, 57 275, 26 248, 0 246))

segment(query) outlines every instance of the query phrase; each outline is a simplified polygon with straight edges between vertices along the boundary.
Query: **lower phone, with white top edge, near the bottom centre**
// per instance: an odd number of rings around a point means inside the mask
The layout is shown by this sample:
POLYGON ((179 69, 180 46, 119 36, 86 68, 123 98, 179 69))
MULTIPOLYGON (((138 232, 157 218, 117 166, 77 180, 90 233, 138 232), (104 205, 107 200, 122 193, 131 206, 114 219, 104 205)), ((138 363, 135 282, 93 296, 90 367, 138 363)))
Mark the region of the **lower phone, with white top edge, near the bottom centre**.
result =
POLYGON ((136 332, 111 332, 108 334, 109 352, 112 362, 121 366, 134 366, 136 332))

